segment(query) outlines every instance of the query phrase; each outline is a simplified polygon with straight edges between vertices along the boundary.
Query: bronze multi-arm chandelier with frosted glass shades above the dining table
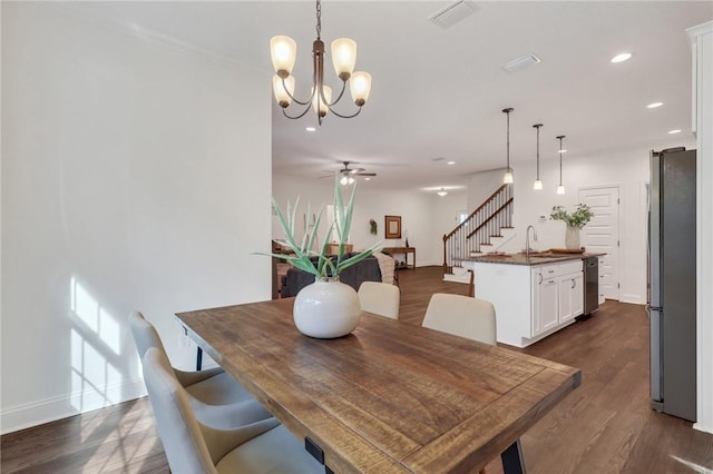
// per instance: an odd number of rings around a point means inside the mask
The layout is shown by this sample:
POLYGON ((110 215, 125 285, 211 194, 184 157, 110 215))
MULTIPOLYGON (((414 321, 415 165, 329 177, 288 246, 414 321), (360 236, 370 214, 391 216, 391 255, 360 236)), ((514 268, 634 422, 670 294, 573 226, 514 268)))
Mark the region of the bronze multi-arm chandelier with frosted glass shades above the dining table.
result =
POLYGON ((296 55, 297 45, 290 37, 273 37, 270 40, 270 53, 272 56, 272 65, 275 68, 275 76, 272 80, 275 100, 282 107, 282 112, 290 119, 299 119, 303 117, 310 105, 314 108, 318 116, 318 122, 322 125, 322 118, 329 111, 340 118, 356 117, 361 112, 361 108, 367 103, 369 93, 371 92, 371 75, 364 71, 354 72, 356 62, 356 42, 350 38, 340 38, 332 41, 332 63, 334 71, 342 81, 342 90, 332 101, 332 89, 324 85, 324 41, 321 39, 322 33, 322 6, 316 0, 316 40, 312 43, 312 93, 306 101, 300 101, 294 97, 294 76, 292 68, 296 55), (349 82, 352 100, 359 107, 354 113, 342 115, 336 112, 332 106, 340 101, 349 82), (287 107, 292 101, 300 106, 306 106, 295 116, 287 115, 287 107))

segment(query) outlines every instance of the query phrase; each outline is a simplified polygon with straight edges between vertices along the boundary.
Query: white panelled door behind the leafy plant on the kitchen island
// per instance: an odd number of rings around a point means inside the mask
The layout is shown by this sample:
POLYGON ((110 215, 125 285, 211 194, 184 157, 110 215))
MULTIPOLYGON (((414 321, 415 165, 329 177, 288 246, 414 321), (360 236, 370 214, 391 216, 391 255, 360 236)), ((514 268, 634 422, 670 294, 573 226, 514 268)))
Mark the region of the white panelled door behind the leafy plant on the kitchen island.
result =
POLYGON ((594 217, 582 229, 587 251, 606 253, 599 258, 599 294, 619 299, 619 188, 580 188, 579 203, 592 208, 594 217))

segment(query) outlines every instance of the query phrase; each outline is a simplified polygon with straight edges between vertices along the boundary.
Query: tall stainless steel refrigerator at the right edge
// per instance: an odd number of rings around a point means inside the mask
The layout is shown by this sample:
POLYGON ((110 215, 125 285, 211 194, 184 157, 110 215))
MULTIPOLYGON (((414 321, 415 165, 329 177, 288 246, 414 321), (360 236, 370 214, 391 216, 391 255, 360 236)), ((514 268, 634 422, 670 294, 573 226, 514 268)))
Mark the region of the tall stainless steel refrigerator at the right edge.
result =
POLYGON ((695 150, 651 152, 648 309, 652 407, 696 417, 695 150))

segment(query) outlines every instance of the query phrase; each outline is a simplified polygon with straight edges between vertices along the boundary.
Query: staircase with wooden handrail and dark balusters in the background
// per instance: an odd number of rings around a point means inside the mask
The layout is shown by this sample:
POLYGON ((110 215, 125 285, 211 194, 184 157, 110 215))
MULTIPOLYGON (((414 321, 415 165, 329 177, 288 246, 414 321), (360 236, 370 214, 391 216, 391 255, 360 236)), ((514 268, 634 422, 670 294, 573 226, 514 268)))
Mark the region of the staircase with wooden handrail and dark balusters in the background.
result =
POLYGON ((458 227, 443 235, 443 279, 470 283, 463 260, 497 251, 512 237, 512 185, 502 185, 458 227))

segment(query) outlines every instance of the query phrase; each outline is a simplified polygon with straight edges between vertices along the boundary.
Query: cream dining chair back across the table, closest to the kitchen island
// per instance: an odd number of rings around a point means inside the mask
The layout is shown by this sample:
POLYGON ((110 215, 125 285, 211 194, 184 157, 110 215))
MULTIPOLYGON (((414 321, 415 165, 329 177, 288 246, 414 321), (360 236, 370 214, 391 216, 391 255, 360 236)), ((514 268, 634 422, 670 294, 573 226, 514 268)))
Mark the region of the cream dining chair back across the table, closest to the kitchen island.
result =
POLYGON ((486 344, 497 342, 495 306, 470 296, 433 294, 422 326, 486 344))

